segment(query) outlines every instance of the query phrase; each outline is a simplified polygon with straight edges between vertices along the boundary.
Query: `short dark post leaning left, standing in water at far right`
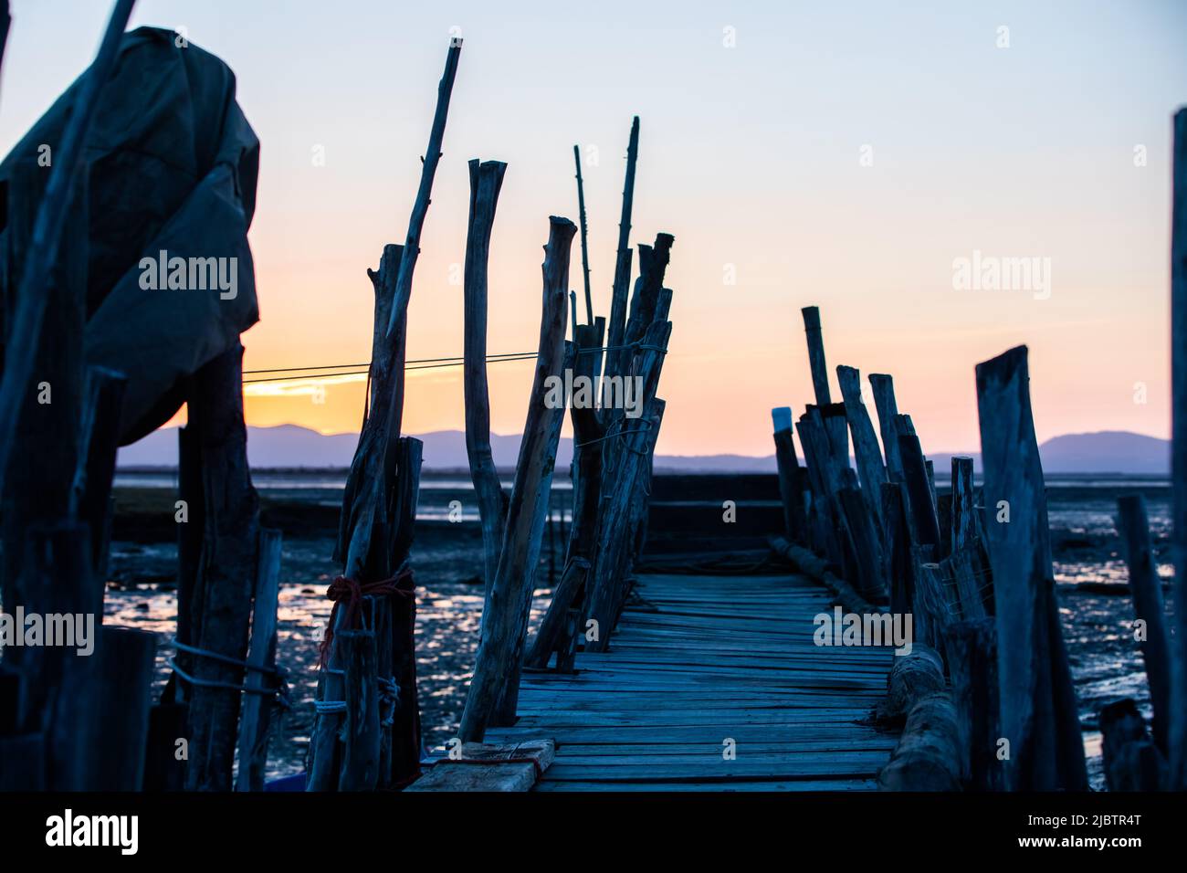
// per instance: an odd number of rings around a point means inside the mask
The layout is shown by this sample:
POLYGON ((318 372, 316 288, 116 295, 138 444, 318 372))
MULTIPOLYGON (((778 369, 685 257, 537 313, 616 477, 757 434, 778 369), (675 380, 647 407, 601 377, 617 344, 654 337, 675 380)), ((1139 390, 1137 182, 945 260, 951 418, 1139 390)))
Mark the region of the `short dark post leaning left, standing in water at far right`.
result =
POLYGON ((1150 687, 1150 703, 1154 706, 1154 741, 1166 753, 1169 752, 1170 639, 1167 634, 1166 606, 1162 602, 1162 582, 1154 565, 1145 498, 1141 494, 1117 498, 1117 533, 1124 544, 1125 563, 1129 567, 1134 613, 1144 625, 1141 649, 1145 662, 1145 679, 1150 687))

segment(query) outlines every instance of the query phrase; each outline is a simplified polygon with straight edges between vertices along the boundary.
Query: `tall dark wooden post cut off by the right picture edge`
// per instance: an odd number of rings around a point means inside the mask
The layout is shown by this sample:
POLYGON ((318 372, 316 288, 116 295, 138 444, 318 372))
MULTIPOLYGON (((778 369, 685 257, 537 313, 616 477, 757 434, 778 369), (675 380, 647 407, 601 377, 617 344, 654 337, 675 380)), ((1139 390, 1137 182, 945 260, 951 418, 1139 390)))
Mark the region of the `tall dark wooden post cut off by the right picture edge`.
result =
MULTIPOLYGON (((1187 108, 1175 113, 1170 213, 1170 487, 1175 562, 1169 784, 1187 790, 1187 108)), ((7 373, 5 374, 7 375, 7 373)))

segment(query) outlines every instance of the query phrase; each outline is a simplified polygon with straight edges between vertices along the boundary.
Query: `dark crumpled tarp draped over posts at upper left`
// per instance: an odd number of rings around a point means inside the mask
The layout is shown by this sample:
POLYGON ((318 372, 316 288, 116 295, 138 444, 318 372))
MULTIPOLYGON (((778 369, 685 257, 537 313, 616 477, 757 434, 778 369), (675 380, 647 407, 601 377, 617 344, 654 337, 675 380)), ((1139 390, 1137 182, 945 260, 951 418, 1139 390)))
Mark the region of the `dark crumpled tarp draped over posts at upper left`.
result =
MULTIPOLYGON (((38 164, 42 146, 61 140, 80 83, 0 164, 0 186, 17 172, 47 172, 38 164)), ((120 437, 127 444, 169 420, 184 400, 184 377, 259 320, 247 229, 260 143, 235 102, 227 64, 172 31, 141 27, 123 37, 87 146, 85 360, 128 377, 120 437), (152 283, 142 278, 141 259, 155 262, 163 251, 186 264, 227 259, 228 277, 236 259, 235 296, 192 281, 142 287, 152 283)), ((8 251, 0 239, 0 252, 8 251)), ((7 261, 15 259, 5 260, 0 273, 11 298, 15 277, 7 261)))

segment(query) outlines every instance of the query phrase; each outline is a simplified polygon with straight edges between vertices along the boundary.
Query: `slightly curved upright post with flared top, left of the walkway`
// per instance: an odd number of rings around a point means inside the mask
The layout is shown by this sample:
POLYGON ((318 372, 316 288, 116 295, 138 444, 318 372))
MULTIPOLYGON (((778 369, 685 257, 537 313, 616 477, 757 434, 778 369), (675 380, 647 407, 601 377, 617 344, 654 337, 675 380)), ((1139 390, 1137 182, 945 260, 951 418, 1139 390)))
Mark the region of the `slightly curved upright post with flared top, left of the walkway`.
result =
POLYGON ((490 397, 487 387, 487 262, 495 207, 506 170, 507 164, 497 160, 483 164, 470 162, 470 226, 465 239, 465 451, 478 501, 488 594, 499 568, 507 520, 507 494, 499 481, 490 448, 490 397))

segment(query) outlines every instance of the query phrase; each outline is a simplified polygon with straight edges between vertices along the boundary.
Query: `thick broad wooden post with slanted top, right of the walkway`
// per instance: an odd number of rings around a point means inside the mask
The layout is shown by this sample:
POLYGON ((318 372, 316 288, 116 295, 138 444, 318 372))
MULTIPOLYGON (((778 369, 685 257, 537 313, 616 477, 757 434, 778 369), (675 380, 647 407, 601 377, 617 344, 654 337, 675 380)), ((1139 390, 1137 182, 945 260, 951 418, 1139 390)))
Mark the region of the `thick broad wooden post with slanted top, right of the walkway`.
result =
MULTIPOLYGON (((985 502, 1009 512, 989 525, 997 616, 1005 785, 1085 790, 1075 689, 1055 602, 1042 464, 1024 346, 977 366, 985 502)), ((906 458, 904 458, 906 460, 906 458)))

